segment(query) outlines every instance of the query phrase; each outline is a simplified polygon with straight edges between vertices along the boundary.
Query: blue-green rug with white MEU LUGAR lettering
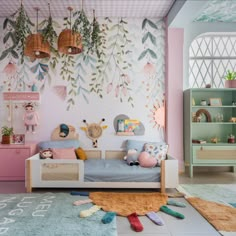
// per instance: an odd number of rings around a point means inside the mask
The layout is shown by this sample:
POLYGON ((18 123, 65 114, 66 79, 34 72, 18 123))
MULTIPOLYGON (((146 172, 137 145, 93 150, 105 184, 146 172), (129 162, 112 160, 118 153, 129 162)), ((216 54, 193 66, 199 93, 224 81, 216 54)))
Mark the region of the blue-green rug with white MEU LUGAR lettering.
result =
POLYGON ((93 204, 74 206, 73 202, 86 198, 69 193, 1 194, 0 235, 117 236, 116 219, 103 224, 102 210, 80 218, 80 211, 93 204))

